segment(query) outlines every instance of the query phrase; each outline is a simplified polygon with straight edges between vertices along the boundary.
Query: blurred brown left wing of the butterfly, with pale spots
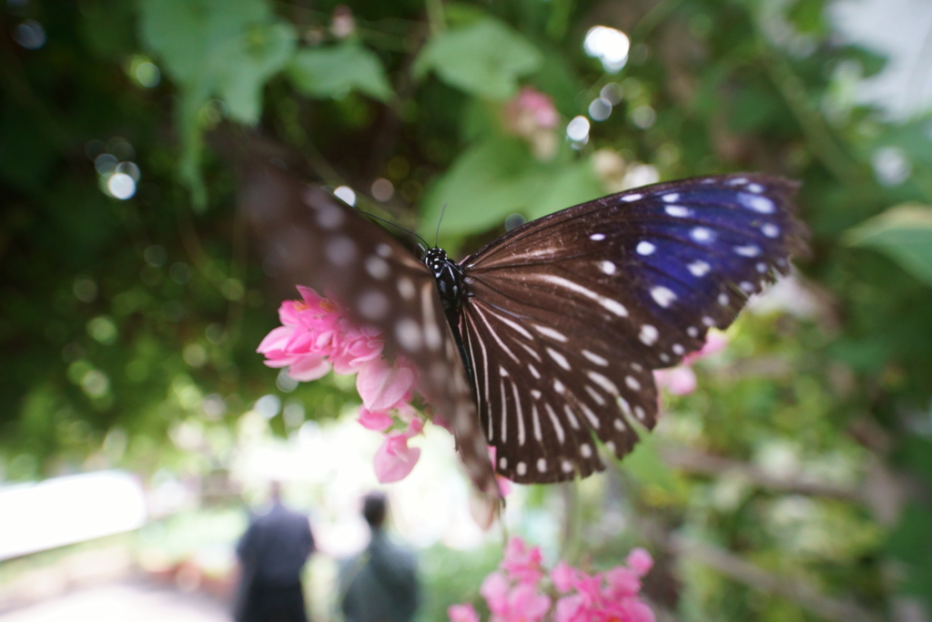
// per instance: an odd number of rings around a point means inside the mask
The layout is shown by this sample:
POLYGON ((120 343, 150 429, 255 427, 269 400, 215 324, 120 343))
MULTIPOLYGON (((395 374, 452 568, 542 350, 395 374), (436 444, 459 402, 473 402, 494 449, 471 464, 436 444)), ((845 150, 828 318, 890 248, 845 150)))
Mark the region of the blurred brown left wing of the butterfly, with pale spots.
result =
POLYGON ((384 229, 280 168, 251 161, 241 208, 265 240, 265 267, 340 302, 349 319, 377 329, 390 354, 418 371, 418 390, 452 425, 473 483, 499 495, 473 394, 431 273, 384 229))

